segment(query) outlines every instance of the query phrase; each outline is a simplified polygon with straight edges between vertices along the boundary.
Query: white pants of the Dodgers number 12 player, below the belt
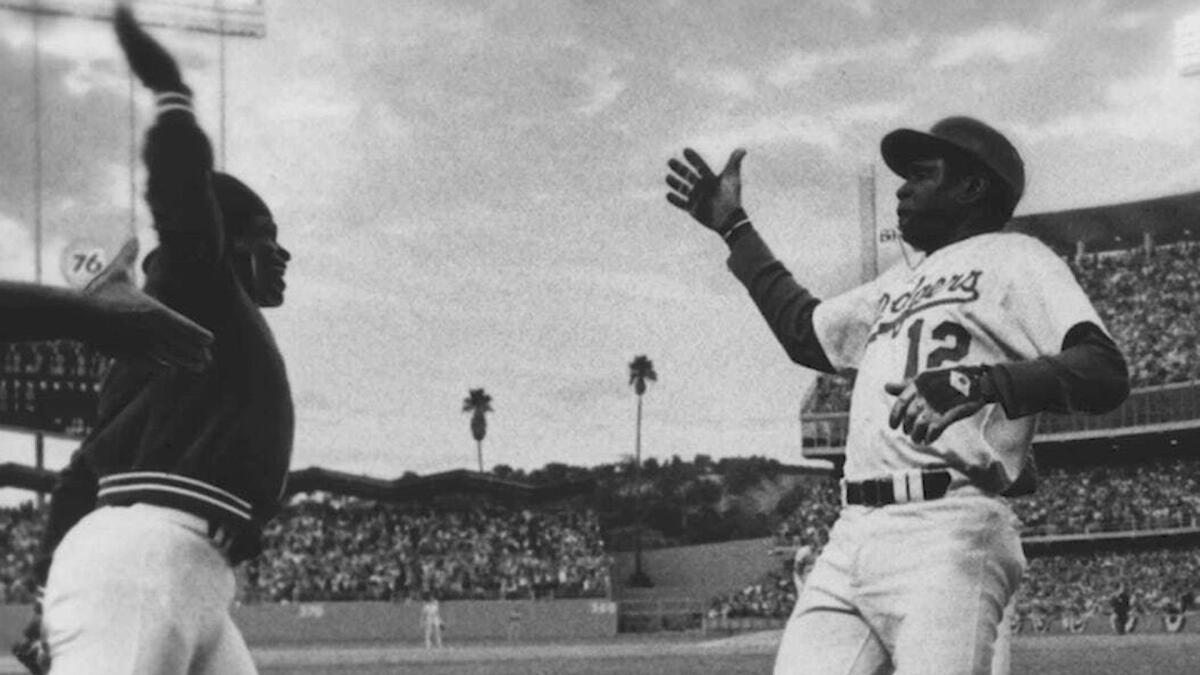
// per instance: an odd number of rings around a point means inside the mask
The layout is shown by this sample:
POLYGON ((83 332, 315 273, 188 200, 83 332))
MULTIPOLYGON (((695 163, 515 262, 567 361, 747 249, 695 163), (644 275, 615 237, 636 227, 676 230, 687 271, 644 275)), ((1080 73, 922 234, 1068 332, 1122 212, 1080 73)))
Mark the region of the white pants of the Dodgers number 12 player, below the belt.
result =
POLYGON ((1004 502, 851 506, 784 631, 776 675, 988 675, 1025 571, 1004 502))

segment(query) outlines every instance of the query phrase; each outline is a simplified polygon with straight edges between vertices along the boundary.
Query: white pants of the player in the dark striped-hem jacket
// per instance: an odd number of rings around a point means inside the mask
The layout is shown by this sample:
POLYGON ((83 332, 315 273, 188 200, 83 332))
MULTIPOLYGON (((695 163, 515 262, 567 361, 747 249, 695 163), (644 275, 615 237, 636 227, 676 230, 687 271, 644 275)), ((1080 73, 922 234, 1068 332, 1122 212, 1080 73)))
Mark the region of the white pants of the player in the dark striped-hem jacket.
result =
POLYGON ((54 552, 42 615, 50 674, 256 674, 229 616, 234 591, 203 519, 98 508, 54 552))

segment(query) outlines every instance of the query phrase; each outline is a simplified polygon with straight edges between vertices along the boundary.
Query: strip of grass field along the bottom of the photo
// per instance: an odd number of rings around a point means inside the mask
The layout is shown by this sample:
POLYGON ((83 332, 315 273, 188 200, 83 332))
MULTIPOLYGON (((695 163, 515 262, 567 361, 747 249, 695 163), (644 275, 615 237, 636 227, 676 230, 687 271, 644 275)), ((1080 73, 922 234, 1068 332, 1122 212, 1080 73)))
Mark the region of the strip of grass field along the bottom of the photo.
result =
MULTIPOLYGON (((574 645, 311 646, 254 650, 263 675, 749 675, 770 673, 779 633, 574 645)), ((0 658, 0 674, 24 673, 0 658)), ((1018 637, 1013 675, 1192 675, 1200 635, 1018 637)))

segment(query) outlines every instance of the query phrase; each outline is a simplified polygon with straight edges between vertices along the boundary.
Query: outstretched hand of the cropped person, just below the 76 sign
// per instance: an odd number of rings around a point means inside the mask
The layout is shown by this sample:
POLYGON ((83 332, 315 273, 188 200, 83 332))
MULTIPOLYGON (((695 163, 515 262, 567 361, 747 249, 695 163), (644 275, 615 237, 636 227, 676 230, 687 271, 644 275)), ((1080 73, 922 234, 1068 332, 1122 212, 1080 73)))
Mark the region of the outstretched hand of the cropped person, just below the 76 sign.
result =
POLYGON ((144 357, 161 366, 204 370, 212 360, 212 333, 139 291, 133 283, 137 257, 138 240, 130 239, 84 288, 102 315, 92 342, 102 351, 144 357))

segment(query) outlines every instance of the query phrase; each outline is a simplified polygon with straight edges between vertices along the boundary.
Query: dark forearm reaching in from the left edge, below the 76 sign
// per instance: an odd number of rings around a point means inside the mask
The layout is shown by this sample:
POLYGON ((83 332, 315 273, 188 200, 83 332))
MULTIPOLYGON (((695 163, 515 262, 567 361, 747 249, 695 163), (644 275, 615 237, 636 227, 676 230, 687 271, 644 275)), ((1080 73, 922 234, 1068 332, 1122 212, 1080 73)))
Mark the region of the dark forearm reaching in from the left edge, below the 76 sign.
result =
POLYGON ((94 340, 108 317, 94 298, 53 286, 0 281, 0 340, 94 340))

